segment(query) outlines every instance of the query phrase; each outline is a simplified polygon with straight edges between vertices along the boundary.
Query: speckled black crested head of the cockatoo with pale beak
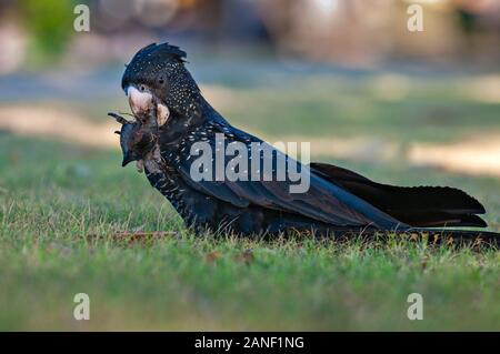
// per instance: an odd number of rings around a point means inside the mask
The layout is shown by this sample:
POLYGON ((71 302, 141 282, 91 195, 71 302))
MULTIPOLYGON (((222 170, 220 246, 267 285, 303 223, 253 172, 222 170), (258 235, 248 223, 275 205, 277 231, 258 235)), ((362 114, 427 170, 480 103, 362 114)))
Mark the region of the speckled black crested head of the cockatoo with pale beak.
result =
POLYGON ((158 125, 171 115, 190 119, 199 113, 200 90, 184 67, 186 52, 169 43, 139 50, 123 73, 121 87, 133 114, 147 120, 156 110, 158 125))

